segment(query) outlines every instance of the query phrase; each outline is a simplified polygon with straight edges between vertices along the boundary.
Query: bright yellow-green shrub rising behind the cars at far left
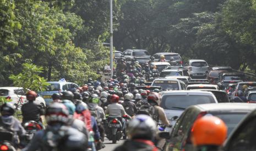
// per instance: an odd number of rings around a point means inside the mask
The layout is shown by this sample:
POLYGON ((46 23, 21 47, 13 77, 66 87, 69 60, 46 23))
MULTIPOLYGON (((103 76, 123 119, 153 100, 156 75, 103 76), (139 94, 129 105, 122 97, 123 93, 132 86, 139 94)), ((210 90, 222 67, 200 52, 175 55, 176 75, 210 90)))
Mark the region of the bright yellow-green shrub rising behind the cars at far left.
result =
POLYGON ((46 80, 39 76, 43 68, 30 63, 23 64, 23 70, 18 75, 10 75, 14 86, 34 91, 44 91, 49 85, 46 80))

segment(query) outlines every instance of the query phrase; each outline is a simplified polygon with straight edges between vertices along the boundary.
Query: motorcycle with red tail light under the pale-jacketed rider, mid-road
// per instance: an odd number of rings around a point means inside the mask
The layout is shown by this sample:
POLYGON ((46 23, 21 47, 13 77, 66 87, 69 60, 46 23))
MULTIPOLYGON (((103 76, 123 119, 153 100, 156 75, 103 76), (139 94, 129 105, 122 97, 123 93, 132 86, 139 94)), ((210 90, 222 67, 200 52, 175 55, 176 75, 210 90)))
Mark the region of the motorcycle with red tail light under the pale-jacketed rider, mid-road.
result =
POLYGON ((118 118, 108 118, 105 125, 108 140, 115 144, 122 137, 122 123, 118 118))

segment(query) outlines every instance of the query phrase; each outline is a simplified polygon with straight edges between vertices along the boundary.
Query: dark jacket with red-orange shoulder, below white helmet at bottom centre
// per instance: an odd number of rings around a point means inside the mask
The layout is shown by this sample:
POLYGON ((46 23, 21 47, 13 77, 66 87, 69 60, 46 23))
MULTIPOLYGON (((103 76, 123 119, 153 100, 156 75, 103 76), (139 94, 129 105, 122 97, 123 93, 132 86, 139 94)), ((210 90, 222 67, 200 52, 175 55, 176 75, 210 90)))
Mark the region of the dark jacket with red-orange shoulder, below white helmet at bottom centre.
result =
POLYGON ((157 151, 154 143, 149 140, 127 140, 114 151, 157 151))

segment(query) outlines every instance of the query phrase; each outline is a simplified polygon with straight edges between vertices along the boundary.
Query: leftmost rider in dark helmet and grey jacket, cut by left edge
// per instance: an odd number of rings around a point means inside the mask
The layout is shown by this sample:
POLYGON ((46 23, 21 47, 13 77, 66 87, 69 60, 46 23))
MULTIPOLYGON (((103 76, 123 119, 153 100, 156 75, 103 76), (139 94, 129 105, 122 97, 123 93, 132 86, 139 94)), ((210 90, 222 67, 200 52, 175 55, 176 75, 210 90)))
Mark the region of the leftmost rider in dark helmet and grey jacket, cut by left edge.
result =
POLYGON ((26 131, 21 126, 19 120, 13 117, 15 109, 12 103, 7 102, 2 104, 0 112, 0 129, 13 132, 12 143, 14 144, 14 147, 17 148, 20 144, 20 140, 24 139, 26 131))

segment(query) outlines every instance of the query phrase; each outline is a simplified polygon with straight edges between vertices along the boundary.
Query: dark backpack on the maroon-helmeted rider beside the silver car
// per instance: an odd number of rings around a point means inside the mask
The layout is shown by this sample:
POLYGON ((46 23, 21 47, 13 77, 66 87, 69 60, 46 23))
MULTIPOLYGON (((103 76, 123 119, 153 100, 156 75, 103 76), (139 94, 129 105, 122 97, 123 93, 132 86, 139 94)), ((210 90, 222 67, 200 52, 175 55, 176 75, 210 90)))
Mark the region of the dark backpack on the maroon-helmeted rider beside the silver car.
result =
POLYGON ((152 119, 154 119, 156 122, 159 120, 159 114, 154 106, 152 106, 150 103, 143 104, 137 114, 145 114, 149 115, 152 119))

